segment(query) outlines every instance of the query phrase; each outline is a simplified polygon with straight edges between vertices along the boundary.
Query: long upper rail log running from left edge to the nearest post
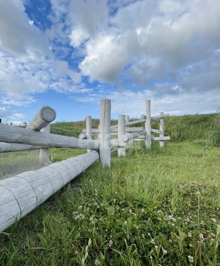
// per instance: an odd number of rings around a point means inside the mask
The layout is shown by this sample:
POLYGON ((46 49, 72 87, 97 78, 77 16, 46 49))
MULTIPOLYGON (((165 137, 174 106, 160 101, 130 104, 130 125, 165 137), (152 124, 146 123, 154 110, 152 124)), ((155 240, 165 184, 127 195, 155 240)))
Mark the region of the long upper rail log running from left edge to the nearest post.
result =
POLYGON ((82 140, 6 124, 0 124, 0 142, 37 145, 48 148, 99 149, 98 140, 82 140))

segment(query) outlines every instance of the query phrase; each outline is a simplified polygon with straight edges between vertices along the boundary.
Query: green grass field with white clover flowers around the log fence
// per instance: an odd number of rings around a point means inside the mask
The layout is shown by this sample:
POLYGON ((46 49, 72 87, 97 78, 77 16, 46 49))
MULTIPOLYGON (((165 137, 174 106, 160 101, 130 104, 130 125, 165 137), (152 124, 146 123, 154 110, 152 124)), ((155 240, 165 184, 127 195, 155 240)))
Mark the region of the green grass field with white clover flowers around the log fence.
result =
MULTIPOLYGON (((175 141, 164 149, 112 153, 110 170, 94 163, 77 187, 1 233, 0 265, 220 265, 220 148, 204 137, 213 116, 170 117, 165 135, 175 141)), ((53 133, 78 134, 84 123, 55 123, 53 133)))

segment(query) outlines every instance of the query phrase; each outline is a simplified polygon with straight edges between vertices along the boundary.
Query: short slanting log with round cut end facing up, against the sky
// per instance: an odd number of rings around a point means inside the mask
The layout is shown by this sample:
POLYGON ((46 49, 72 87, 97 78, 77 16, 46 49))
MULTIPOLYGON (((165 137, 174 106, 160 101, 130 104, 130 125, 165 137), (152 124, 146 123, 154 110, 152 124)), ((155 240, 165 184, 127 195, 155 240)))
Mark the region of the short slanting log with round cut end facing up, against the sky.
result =
POLYGON ((26 129, 40 130, 56 118, 56 112, 50 106, 42 106, 34 118, 27 124, 26 129))

